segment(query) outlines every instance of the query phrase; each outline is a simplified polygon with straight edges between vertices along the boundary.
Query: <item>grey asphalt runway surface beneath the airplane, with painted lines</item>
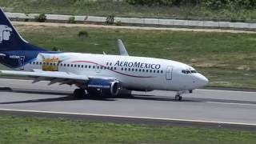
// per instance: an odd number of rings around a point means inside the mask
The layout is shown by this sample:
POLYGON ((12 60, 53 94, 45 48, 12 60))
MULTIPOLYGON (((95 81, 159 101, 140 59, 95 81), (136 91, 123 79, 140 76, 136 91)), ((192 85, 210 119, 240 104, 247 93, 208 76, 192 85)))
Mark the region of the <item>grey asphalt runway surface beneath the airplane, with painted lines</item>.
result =
POLYGON ((152 125, 209 126, 256 130, 256 92, 194 90, 182 102, 174 92, 73 99, 75 86, 0 78, 0 114, 87 119, 152 125))

